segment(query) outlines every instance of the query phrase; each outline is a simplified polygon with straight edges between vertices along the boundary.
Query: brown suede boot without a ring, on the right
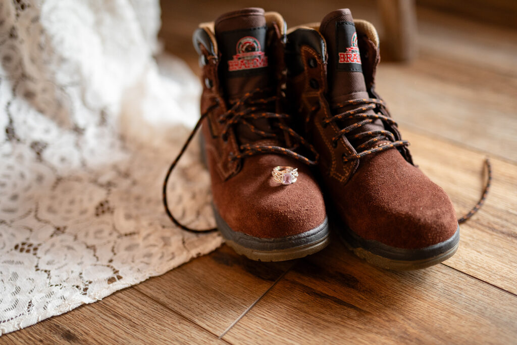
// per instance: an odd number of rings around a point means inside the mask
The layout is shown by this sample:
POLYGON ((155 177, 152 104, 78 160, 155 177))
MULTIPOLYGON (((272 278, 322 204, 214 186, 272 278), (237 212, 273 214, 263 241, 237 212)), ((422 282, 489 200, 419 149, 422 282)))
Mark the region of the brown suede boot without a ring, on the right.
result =
POLYGON ((414 166, 374 90, 378 46, 373 25, 348 9, 293 28, 287 98, 320 154, 327 206, 337 214, 331 223, 346 245, 377 266, 424 268, 457 250, 458 221, 444 190, 414 166))

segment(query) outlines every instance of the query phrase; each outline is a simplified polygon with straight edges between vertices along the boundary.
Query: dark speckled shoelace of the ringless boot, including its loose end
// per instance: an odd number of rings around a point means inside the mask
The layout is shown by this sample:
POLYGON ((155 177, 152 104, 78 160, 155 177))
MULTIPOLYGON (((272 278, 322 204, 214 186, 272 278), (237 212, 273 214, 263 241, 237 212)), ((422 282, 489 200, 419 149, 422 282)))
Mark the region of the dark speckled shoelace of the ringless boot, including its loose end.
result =
MULTIPOLYGON (((337 114, 332 116, 331 118, 325 119, 323 121, 324 126, 328 125, 331 122, 336 122, 340 120, 349 120, 349 119, 360 119, 360 121, 355 122, 349 126, 346 126, 345 128, 341 129, 337 134, 336 137, 332 138, 332 144, 335 146, 338 142, 338 140, 341 138, 341 136, 346 136, 347 133, 352 132, 353 130, 358 129, 361 126, 367 125, 369 123, 374 122, 377 119, 380 119, 381 121, 384 121, 390 125, 397 125, 396 122, 393 121, 392 118, 379 115, 379 114, 367 114, 364 113, 368 110, 375 110, 378 108, 384 108, 386 109, 386 103, 382 99, 377 98, 360 98, 360 99, 352 99, 343 103, 336 104, 336 109, 344 108, 344 107, 351 107, 351 106, 360 106, 356 107, 350 110, 347 110, 343 113, 337 114)), ((387 130, 372 130, 372 131, 364 131, 359 132, 357 134, 354 134, 351 136, 350 139, 357 140, 362 138, 368 138, 369 140, 363 142, 362 144, 358 145, 356 147, 357 154, 353 154, 348 157, 343 157, 343 162, 348 162, 351 160, 356 160, 361 157, 364 157, 366 155, 374 154, 377 152, 385 151, 387 149, 390 149, 392 147, 398 147, 398 146, 407 146, 409 145, 409 142, 407 140, 396 140, 393 136, 393 133, 387 130), (381 145, 373 146, 376 142, 379 141, 388 141, 389 143, 382 142, 381 145), (370 148, 367 148, 370 147, 370 148), (362 151, 360 151, 362 149, 362 151)), ((490 190, 490 186, 492 184, 492 166, 490 164, 490 160, 488 158, 484 161, 486 166, 486 183, 483 188, 483 192, 481 193, 481 198, 478 200, 476 205, 470 209, 470 211, 460 219, 458 219, 458 223, 464 223, 466 222, 470 217, 474 216, 481 206, 483 206, 486 196, 488 196, 488 192, 490 190)))

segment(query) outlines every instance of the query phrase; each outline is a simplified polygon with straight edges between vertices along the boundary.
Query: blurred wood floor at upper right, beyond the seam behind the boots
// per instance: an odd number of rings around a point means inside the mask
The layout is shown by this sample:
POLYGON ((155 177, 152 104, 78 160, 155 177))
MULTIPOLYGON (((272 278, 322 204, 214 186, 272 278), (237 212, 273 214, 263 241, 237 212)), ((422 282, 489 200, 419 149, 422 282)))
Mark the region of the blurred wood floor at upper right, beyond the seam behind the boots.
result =
POLYGON ((378 69, 377 89, 393 117, 517 161, 517 32, 429 10, 418 14, 419 58, 378 69))

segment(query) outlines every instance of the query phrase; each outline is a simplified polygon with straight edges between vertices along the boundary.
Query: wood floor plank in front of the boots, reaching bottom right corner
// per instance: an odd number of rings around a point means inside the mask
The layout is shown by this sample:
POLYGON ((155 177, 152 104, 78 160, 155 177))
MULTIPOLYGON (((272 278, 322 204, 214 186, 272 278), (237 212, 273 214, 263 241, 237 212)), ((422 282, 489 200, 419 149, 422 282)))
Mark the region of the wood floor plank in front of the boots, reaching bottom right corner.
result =
POLYGON ((393 273, 334 242, 298 262, 223 339, 255 343, 512 343, 517 298, 445 265, 393 273))

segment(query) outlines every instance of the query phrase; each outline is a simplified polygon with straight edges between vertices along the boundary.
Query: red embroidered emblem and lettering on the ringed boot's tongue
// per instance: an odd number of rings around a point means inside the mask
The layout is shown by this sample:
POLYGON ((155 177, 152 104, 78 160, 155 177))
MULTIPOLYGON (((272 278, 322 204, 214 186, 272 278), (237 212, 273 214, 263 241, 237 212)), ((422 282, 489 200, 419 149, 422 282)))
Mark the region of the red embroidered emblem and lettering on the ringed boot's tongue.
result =
POLYGON ((233 55, 233 59, 228 61, 230 72, 267 67, 267 56, 255 37, 242 37, 237 42, 235 50, 237 54, 233 55))

